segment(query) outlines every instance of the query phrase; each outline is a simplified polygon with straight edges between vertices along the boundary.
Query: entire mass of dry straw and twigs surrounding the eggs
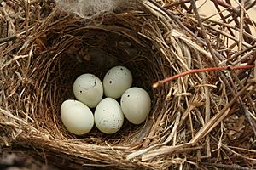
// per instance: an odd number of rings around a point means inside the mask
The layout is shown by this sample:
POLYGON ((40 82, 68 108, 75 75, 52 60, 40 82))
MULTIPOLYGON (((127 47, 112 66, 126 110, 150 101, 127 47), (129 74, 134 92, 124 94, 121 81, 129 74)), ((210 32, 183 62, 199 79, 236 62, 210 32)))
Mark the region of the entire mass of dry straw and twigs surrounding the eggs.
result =
POLYGON ((230 7, 219 22, 199 16, 194 0, 138 0, 92 20, 53 1, 25 2, 9 2, 11 14, 1 8, 3 150, 73 169, 255 166, 256 38, 246 10, 230 7), (60 106, 73 99, 75 78, 103 77, 113 65, 127 66, 134 85, 150 93, 148 120, 125 122, 113 135, 96 128, 80 138, 67 133, 60 106))

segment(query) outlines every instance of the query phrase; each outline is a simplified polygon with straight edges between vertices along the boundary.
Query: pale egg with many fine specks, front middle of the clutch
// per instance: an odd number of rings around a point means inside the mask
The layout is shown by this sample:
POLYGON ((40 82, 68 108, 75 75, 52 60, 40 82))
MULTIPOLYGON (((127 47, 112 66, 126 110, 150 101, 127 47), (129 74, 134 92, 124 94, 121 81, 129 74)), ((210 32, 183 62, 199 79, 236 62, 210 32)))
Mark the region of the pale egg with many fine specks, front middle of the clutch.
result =
POLYGON ((102 99, 96 106, 94 117, 96 127, 107 134, 118 132, 124 122, 121 106, 112 98, 102 99))

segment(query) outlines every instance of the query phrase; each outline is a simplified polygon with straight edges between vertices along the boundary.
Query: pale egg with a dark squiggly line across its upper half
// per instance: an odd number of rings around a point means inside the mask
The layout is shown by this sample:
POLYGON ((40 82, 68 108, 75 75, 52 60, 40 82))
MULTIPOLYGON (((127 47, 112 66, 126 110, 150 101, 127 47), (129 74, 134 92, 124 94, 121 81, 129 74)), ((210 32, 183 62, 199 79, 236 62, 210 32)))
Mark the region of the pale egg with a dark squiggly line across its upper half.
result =
POLYGON ((73 83, 73 94, 76 99, 88 107, 94 108, 102 100, 102 82, 93 74, 83 74, 73 83))

